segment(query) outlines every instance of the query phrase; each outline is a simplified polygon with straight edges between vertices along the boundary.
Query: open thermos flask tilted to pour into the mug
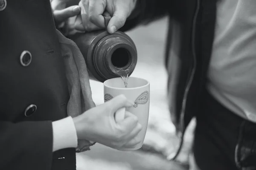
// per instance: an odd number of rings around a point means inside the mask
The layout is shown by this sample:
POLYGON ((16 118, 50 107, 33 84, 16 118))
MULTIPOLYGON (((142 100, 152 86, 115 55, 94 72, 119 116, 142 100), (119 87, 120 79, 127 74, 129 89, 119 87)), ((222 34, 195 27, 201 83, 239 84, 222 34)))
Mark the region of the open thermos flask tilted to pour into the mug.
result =
MULTIPOLYGON (((106 19, 105 21, 109 20, 106 19)), ((107 26, 107 23, 106 23, 107 26)), ((137 49, 131 38, 121 31, 106 30, 77 33, 71 37, 84 56, 90 79, 130 76, 137 64, 137 49)))

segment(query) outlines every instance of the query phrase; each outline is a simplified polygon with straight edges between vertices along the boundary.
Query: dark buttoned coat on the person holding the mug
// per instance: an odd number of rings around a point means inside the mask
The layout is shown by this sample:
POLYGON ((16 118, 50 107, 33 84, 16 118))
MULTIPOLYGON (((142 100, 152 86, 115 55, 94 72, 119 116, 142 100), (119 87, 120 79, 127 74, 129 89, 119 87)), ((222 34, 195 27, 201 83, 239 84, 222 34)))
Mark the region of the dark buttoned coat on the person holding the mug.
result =
POLYGON ((0 0, 0 170, 75 170, 75 148, 52 153, 52 121, 67 116, 69 94, 50 2, 4 3, 0 0))

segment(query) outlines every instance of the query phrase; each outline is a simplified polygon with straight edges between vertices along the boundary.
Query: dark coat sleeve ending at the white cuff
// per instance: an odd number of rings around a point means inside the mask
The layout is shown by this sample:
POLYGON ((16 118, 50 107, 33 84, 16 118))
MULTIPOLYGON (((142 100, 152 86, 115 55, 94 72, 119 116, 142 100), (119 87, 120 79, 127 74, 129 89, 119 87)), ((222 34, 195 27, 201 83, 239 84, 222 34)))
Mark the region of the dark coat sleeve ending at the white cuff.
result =
POLYGON ((52 122, 0 121, 0 170, 50 170, 52 122))

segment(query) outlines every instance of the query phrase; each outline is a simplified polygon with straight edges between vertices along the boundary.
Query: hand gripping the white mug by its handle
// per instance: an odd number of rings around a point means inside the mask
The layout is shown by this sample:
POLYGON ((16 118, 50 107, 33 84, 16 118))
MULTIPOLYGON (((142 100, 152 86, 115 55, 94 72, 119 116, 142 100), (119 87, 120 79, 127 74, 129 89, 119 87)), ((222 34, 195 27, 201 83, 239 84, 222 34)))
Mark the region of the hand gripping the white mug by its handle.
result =
POLYGON ((73 118, 78 139, 87 139, 115 149, 134 147, 140 143, 136 136, 142 130, 137 116, 125 111, 125 119, 115 120, 116 111, 133 105, 124 95, 119 95, 73 118))

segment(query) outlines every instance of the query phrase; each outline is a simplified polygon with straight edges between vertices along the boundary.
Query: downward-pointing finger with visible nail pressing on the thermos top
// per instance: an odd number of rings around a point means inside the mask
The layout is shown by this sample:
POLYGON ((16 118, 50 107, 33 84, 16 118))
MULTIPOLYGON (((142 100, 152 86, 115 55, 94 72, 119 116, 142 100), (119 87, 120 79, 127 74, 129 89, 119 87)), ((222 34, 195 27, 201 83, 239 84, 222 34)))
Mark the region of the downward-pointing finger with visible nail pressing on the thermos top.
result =
POLYGON ((125 21, 128 15, 127 10, 122 7, 116 7, 116 11, 113 14, 113 17, 108 23, 108 32, 113 34, 116 30, 125 25, 125 21))

